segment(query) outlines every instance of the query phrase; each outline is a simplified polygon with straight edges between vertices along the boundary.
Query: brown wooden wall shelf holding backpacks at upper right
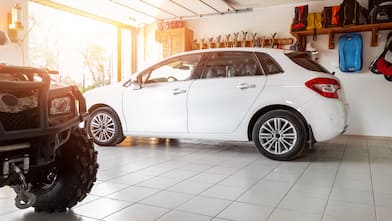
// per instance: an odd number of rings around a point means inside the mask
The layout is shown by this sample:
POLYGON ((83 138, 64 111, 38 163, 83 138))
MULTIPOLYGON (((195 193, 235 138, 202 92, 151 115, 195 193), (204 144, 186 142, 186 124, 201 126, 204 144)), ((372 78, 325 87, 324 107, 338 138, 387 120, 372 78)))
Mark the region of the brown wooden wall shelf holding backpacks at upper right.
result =
MULTIPOLYGON (((335 34, 337 33, 350 33, 350 32, 372 32, 372 39, 370 45, 372 47, 377 46, 377 35, 380 30, 392 30, 392 22, 379 23, 379 24, 366 24, 366 25, 353 25, 349 27, 334 27, 334 28, 321 28, 316 29, 317 35, 328 35, 328 48, 335 48, 335 34)), ((312 36, 313 30, 305 31, 291 31, 291 34, 297 38, 298 42, 305 42, 306 36, 312 36), (305 38, 305 39, 304 39, 305 38)), ((304 49, 304 46, 300 45, 300 48, 304 49)))

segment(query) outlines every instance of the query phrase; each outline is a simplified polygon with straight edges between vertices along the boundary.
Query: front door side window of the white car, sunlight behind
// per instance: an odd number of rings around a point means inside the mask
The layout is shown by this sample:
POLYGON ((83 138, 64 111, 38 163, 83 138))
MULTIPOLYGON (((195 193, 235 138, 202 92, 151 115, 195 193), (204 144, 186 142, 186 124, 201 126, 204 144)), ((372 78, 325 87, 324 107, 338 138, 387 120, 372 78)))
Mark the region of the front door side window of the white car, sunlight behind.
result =
POLYGON ((164 61, 153 68, 147 77, 143 79, 143 82, 149 84, 192 80, 197 77, 194 72, 201 57, 201 54, 194 54, 164 61))

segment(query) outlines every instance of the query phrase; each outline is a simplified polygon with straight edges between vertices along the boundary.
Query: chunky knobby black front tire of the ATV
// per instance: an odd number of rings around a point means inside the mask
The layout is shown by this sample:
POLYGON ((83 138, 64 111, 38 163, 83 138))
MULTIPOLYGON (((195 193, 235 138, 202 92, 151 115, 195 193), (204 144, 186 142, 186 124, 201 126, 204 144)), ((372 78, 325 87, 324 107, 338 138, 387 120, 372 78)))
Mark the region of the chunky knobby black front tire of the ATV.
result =
POLYGON ((36 181, 35 211, 64 212, 82 201, 96 181, 97 151, 84 129, 76 129, 56 150, 55 162, 45 168, 45 178, 36 181), (51 178, 49 178, 51 177, 51 178))

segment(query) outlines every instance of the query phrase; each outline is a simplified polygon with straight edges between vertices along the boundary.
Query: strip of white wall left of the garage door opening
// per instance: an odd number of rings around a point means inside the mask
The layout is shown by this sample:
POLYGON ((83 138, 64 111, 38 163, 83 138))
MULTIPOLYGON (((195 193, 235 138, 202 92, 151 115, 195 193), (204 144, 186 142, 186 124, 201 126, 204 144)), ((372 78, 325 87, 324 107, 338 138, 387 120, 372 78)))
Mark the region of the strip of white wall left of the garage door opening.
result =
MULTIPOLYGON (((25 30, 28 27, 28 13, 27 13, 27 1, 28 0, 0 0, 0 30, 8 32, 8 13, 11 12, 11 8, 15 6, 16 3, 22 5, 23 10, 23 25, 25 30)), ((20 32, 19 36, 23 36, 25 31, 20 32)), ((24 42, 23 49, 25 50, 25 56, 22 56, 22 45, 12 43, 6 46, 0 46, 0 63, 9 63, 15 65, 22 65, 23 60, 27 62, 27 39, 24 42)), ((25 63, 26 63, 25 62, 25 63)))

